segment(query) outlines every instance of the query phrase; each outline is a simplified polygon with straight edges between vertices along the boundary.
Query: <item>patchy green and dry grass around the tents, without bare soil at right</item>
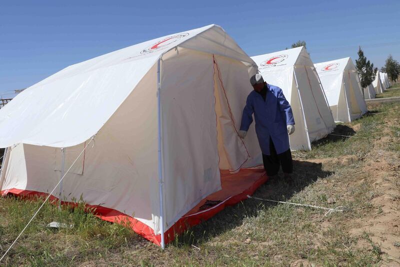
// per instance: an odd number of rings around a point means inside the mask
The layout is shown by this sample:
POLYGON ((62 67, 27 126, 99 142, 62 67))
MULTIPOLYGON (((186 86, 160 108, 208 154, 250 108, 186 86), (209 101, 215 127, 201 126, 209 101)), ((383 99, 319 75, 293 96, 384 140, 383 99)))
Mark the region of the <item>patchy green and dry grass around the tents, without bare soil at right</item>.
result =
MULTIPOLYGON (((323 210, 249 199, 187 230, 161 250, 129 227, 108 223, 91 212, 84 212, 83 203, 60 211, 48 203, 1 264, 379 265, 388 260, 379 242, 372 233, 357 235, 352 229, 359 228, 360 221, 372 214, 384 213, 384 207, 375 204, 382 192, 365 167, 383 152, 398 155, 391 157, 390 164, 400 164, 398 119, 400 105, 394 103, 375 106, 359 120, 340 124, 336 133, 357 138, 328 136, 314 143, 311 151, 294 152, 295 184, 290 186, 283 180, 268 182, 255 193, 275 200, 331 208, 345 206, 348 211, 324 216, 323 210), (51 221, 72 227, 49 229, 46 224, 51 221)), ((400 188, 398 181, 393 185, 396 186, 400 188)), ((41 199, 0 198, 1 254, 40 204, 41 199)))

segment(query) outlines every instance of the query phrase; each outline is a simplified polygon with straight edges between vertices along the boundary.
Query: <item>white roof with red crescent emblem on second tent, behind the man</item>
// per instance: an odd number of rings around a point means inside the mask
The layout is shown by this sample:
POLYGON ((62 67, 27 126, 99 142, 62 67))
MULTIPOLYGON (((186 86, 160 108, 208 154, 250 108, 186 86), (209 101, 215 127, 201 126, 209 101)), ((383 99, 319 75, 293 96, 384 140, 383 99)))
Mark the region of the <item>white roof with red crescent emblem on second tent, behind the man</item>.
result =
POLYGON ((305 50, 304 47, 296 47, 269 54, 253 56, 251 59, 257 64, 260 72, 276 71, 296 65, 297 59, 302 50, 305 50))

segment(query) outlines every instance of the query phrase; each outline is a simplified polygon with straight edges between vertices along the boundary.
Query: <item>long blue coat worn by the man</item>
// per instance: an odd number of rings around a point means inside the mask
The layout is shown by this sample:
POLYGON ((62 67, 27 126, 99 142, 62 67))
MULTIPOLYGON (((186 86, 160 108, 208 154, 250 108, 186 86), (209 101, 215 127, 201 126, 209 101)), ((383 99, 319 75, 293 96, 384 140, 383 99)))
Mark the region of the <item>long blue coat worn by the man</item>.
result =
POLYGON ((289 136, 286 125, 294 125, 293 113, 282 89, 267 85, 265 101, 262 96, 252 91, 246 100, 241 117, 240 130, 248 131, 255 119, 255 132, 262 154, 269 153, 269 137, 271 137, 276 153, 280 154, 289 149, 289 136))

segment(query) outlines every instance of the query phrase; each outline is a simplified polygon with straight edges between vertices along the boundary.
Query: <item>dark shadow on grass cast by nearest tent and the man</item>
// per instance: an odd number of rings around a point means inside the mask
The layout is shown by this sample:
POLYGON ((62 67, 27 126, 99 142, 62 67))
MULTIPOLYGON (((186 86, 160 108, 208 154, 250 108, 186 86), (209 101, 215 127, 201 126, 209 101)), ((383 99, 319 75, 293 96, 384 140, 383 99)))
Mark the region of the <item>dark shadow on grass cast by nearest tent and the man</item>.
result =
MULTIPOLYGON (((315 182, 318 178, 325 178, 333 173, 322 170, 322 164, 309 161, 293 160, 293 180, 289 185, 284 179, 282 173, 278 179, 267 181, 261 185, 254 193, 256 197, 285 201, 290 199, 295 193, 300 192, 309 184, 315 182)), ((198 245, 211 238, 230 231, 240 225, 246 217, 257 216, 260 209, 275 206, 275 203, 244 200, 234 206, 226 207, 212 218, 201 222, 200 224, 189 228, 180 234, 171 242, 176 247, 187 245, 198 245)))

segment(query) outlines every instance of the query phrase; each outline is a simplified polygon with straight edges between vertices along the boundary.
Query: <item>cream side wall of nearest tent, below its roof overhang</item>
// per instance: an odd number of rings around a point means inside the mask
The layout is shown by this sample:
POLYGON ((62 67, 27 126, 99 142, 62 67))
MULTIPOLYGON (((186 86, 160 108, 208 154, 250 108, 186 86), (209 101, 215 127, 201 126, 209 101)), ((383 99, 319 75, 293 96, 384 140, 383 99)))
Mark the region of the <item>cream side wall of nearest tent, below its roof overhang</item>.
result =
MULTIPOLYGON (((156 68, 100 129, 78 161, 78 169, 63 180, 63 200, 112 208, 158 231, 159 197, 156 138, 156 68), (116 130, 117 129, 117 130, 116 130), (79 165, 83 168, 82 174, 79 165)), ((84 144, 66 148, 65 171, 84 144), (68 155, 68 151, 73 153, 68 155)), ((1 190, 17 188, 49 192, 60 179, 59 148, 19 144, 11 149, 1 190)), ((58 189, 55 191, 58 197, 58 189)))

